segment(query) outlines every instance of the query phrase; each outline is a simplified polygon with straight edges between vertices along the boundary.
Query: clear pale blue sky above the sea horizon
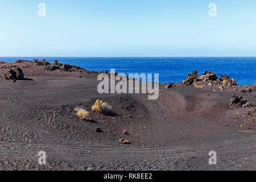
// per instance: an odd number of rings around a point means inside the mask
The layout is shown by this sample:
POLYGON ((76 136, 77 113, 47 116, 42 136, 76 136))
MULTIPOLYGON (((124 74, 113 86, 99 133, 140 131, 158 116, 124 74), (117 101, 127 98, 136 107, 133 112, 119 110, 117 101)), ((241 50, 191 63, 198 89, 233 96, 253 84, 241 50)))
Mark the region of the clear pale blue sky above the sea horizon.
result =
POLYGON ((0 56, 256 56, 255 20, 255 0, 5 0, 0 56))

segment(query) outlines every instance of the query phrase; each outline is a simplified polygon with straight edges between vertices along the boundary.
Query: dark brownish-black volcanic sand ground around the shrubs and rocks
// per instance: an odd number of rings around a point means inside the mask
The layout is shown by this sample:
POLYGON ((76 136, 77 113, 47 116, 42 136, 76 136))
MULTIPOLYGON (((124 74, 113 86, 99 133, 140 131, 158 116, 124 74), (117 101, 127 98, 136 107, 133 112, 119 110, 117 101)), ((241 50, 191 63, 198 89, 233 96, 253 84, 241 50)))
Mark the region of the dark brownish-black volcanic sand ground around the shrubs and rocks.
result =
MULTIPOLYGON (((0 75, 11 65, 0 64, 0 75)), ((244 86, 213 92, 219 85, 160 85, 159 99, 148 100, 147 94, 98 94, 97 73, 15 65, 33 80, 0 79, 1 170, 256 169, 256 124, 246 123, 245 114, 253 109, 229 108, 232 95, 255 104, 255 91, 242 93, 244 86), (90 110, 97 99, 109 102, 113 114, 90 110), (91 122, 77 117, 76 105, 90 110, 91 122), (46 166, 38 164, 39 151, 47 153, 46 166), (209 151, 217 152, 217 165, 209 165, 209 151)))

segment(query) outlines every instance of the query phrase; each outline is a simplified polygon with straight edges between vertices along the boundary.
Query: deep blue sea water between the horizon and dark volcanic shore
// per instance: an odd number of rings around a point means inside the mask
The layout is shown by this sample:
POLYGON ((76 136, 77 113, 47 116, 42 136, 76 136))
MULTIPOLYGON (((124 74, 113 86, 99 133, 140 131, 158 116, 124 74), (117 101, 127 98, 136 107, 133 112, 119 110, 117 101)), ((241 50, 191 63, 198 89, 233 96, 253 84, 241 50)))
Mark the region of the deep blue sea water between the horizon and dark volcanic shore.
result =
POLYGON ((218 77, 228 75, 238 85, 256 84, 256 57, 0 57, 0 61, 13 63, 18 59, 34 61, 46 59, 50 63, 73 64, 88 71, 125 73, 159 73, 159 82, 181 82, 187 73, 204 71, 218 77))

